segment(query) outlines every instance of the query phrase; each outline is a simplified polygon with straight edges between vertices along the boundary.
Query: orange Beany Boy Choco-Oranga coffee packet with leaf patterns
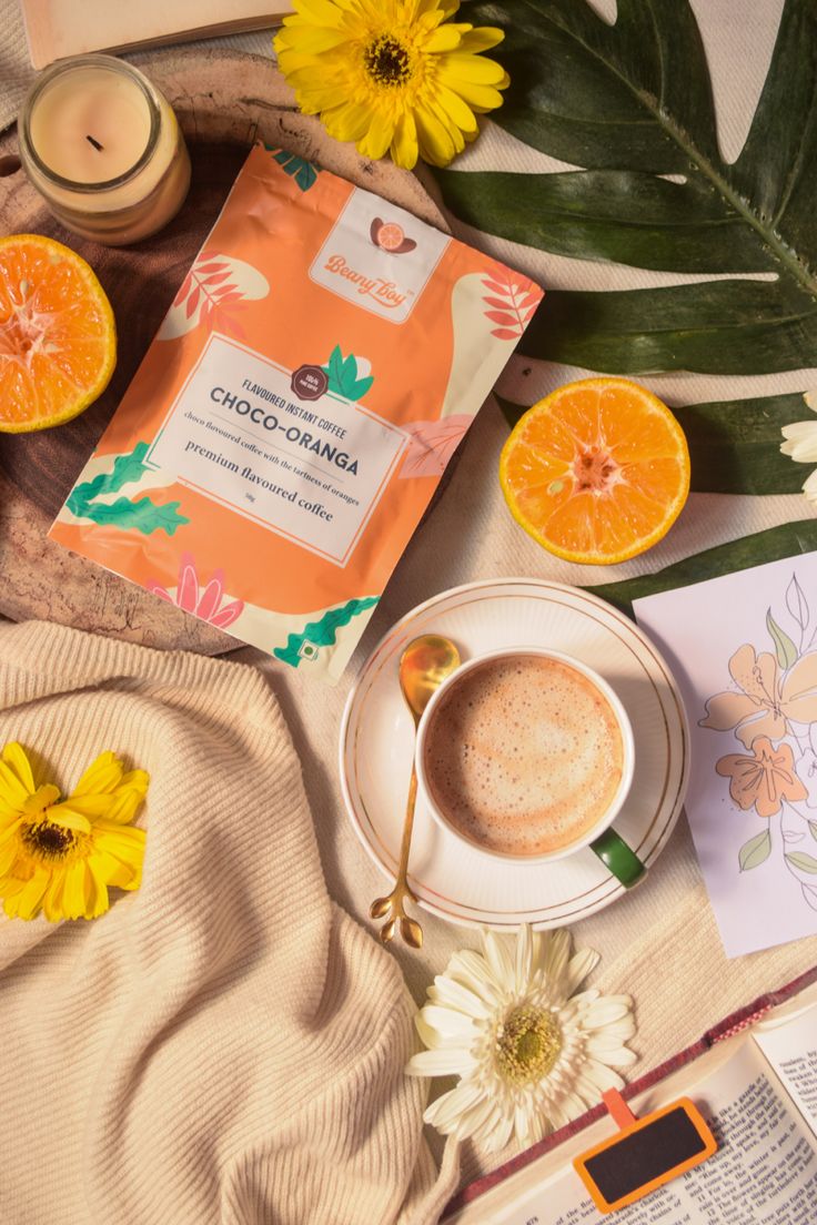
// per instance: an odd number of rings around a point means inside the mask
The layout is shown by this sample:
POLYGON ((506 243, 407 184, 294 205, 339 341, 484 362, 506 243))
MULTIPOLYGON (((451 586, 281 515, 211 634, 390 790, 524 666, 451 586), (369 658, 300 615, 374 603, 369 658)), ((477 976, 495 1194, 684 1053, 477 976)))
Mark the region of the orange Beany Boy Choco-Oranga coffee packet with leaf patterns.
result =
POLYGON ((540 299, 257 145, 50 537, 333 682, 540 299))

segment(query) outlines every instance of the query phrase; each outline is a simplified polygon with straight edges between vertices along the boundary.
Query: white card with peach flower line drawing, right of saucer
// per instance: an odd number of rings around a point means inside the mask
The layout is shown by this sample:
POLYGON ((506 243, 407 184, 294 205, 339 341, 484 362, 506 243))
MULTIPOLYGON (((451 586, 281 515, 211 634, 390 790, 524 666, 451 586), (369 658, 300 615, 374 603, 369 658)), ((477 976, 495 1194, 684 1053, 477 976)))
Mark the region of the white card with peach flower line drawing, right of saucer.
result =
POLYGON ((817 554, 633 603, 686 704, 686 812, 728 957, 817 935, 817 554))

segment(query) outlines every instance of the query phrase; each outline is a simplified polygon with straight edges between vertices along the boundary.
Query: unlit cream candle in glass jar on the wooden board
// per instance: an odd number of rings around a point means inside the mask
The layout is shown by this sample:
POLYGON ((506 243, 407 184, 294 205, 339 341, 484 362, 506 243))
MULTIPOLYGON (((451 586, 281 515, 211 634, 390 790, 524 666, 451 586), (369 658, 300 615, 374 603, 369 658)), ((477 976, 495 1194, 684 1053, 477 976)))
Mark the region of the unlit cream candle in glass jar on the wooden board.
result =
POLYGON ((167 98, 110 55, 62 60, 34 83, 20 158, 59 221, 122 246, 175 217, 190 186, 184 136, 167 98))

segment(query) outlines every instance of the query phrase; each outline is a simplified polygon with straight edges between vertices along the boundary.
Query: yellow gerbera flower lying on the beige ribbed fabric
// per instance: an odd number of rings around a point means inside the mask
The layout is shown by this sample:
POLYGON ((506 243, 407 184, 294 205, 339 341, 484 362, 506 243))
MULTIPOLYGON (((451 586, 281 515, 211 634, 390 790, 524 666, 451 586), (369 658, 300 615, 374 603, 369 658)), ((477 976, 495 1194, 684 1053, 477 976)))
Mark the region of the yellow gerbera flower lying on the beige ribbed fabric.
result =
POLYGON ((145 831, 129 824, 145 799, 148 777, 125 772, 100 753, 60 801, 53 783, 34 784, 24 750, 0 756, 0 898, 13 919, 49 922, 96 919, 110 905, 108 887, 138 888, 145 831))

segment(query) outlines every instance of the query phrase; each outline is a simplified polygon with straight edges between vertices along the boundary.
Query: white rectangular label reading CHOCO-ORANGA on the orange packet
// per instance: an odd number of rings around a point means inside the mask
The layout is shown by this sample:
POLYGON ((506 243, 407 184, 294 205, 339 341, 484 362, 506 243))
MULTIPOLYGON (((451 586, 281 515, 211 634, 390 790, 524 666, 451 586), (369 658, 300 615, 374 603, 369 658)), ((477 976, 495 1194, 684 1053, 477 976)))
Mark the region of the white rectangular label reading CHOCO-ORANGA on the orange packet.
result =
POLYGON ((213 333, 147 463, 345 566, 405 443, 320 365, 289 371, 213 333))

